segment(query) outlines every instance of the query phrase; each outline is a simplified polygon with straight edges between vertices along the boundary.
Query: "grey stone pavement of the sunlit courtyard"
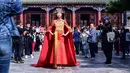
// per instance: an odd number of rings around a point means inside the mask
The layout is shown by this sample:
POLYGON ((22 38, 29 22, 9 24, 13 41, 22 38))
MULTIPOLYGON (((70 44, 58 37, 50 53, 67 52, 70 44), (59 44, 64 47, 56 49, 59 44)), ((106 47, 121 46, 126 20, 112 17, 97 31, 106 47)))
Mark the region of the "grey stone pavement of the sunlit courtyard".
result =
POLYGON ((112 65, 105 65, 103 64, 105 57, 101 51, 96 55, 96 59, 77 56, 77 60, 81 62, 80 66, 65 67, 62 70, 30 66, 37 62, 38 55, 39 53, 36 53, 34 59, 25 59, 24 64, 11 63, 10 73, 130 73, 130 57, 121 60, 120 56, 114 55, 112 65))

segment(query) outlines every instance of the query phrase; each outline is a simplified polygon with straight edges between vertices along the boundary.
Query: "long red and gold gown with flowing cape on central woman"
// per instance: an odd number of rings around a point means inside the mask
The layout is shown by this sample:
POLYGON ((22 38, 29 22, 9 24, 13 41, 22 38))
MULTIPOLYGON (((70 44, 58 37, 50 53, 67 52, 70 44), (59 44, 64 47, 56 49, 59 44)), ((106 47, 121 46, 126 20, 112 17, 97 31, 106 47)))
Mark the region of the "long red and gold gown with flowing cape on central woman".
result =
POLYGON ((55 63, 64 66, 79 65, 79 62, 76 61, 72 31, 66 21, 53 21, 48 30, 55 35, 51 35, 49 32, 45 34, 38 63, 33 66, 52 67, 55 63), (68 31, 67 36, 62 36, 68 31))

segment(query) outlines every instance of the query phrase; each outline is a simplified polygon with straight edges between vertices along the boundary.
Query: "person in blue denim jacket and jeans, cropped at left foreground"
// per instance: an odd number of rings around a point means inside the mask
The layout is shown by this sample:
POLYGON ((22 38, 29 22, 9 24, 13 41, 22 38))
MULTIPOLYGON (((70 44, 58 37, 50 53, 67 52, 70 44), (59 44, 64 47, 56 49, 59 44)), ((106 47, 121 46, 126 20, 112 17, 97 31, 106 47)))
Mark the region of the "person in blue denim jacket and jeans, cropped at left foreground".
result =
POLYGON ((9 73, 12 37, 19 36, 13 16, 22 12, 21 0, 0 0, 0 73, 9 73))

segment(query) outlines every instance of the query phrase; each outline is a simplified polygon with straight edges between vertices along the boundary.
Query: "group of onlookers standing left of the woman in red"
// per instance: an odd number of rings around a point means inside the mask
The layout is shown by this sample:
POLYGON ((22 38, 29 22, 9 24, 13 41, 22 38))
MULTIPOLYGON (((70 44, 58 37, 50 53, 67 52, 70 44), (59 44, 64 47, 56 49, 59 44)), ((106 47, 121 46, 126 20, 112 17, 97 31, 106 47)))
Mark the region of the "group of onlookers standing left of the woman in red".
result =
POLYGON ((39 52, 45 34, 44 27, 36 27, 28 23, 17 25, 20 36, 13 36, 12 59, 15 63, 24 63, 24 58, 34 58, 34 52, 39 52))

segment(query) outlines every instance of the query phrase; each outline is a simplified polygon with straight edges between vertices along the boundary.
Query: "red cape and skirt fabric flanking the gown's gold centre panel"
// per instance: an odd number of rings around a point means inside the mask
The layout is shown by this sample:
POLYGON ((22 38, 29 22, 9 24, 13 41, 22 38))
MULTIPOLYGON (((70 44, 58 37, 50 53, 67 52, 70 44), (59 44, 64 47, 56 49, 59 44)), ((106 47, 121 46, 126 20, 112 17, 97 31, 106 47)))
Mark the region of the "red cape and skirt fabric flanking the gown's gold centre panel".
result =
MULTIPOLYGON (((52 32, 55 26, 50 29, 52 32)), ((65 24, 64 33, 69 31, 68 25, 65 24)), ((57 65, 76 66, 79 62, 76 61, 74 42, 72 32, 65 37, 60 37, 62 43, 58 43, 57 49, 57 65)), ((54 65, 54 36, 49 32, 45 34, 42 50, 37 64, 32 64, 35 67, 52 67, 54 65)))

